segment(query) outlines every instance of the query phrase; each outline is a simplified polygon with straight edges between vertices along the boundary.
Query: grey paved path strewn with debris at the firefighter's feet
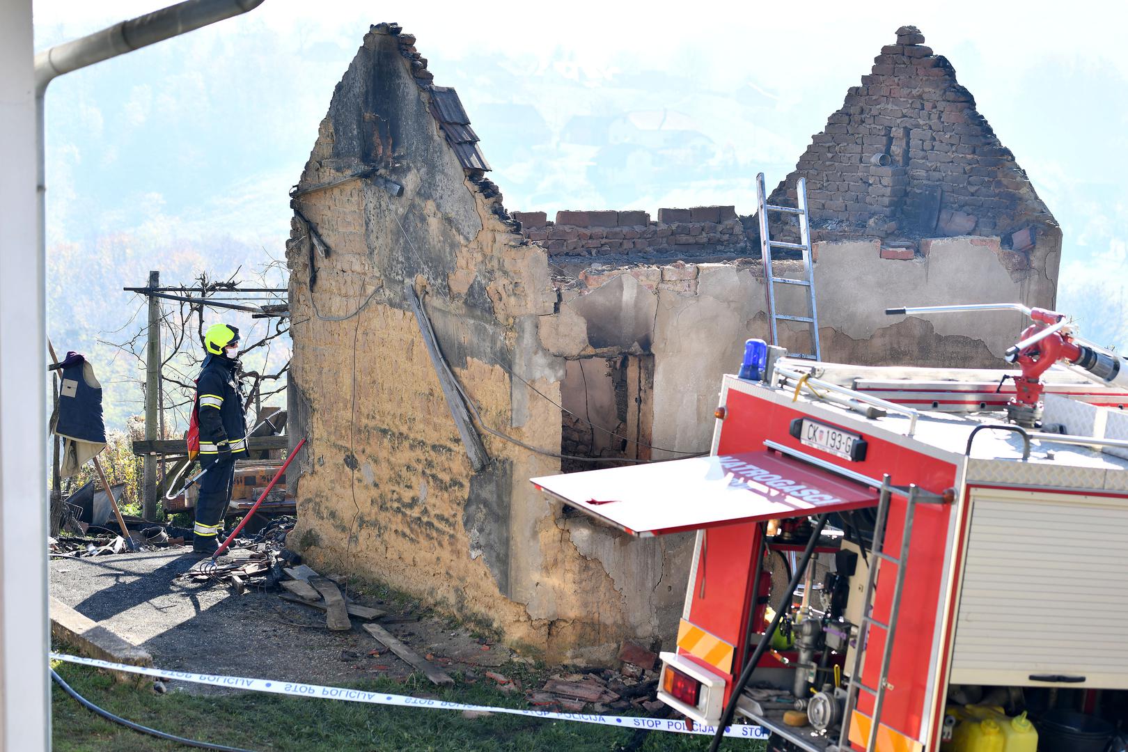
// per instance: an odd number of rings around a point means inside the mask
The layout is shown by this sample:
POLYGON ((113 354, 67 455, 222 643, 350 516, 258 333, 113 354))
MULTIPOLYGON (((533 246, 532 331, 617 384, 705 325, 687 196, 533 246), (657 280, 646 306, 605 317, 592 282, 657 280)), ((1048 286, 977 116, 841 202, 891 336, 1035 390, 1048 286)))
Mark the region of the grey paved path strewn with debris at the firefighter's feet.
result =
MULTIPOLYGON (((319 684, 413 671, 363 631, 360 620, 351 631, 333 632, 323 612, 282 601, 276 593, 236 595, 224 583, 175 580, 199 561, 188 550, 52 559, 51 594, 148 651, 161 669, 319 684), (376 649, 381 654, 371 655, 376 649)), ((245 556, 236 556, 240 554, 245 556)), ((351 594, 364 605, 391 608, 351 594)), ((501 646, 483 651, 464 628, 438 619, 388 629, 421 654, 453 658, 455 665, 440 663, 447 670, 495 665, 511 655, 501 646)))

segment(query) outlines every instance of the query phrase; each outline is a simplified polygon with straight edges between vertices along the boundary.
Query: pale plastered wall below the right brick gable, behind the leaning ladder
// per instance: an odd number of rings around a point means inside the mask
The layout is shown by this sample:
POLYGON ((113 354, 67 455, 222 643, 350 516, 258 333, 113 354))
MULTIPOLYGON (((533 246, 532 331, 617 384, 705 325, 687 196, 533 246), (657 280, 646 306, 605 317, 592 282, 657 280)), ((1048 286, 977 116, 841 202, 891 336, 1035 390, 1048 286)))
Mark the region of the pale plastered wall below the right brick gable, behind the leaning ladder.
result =
MULTIPOLYGON (((858 365, 1002 365, 1023 327, 1017 313, 890 317, 885 308, 942 303, 1031 301, 1038 275, 1008 267, 998 238, 922 241, 926 255, 883 258, 880 241, 820 242, 814 247, 817 307, 825 361, 858 365)), ((797 262, 776 273, 796 277, 797 262)), ((598 286, 571 299, 559 315, 540 319, 545 347, 566 357, 647 346, 654 355, 655 448, 708 449, 721 375, 737 370, 749 337, 767 339, 763 265, 759 262, 681 267, 623 267, 592 276, 598 286), (695 275, 689 290, 664 276, 695 275), (649 289, 647 285, 653 289, 649 289), (596 334, 591 334, 594 331, 596 334), (620 336, 609 343, 605 331, 620 336), (587 333, 587 334, 585 334, 587 333)), ((574 291, 572 291, 574 292, 574 291)), ((805 315, 805 291, 776 286, 781 312, 805 315)), ((781 327, 781 344, 809 350, 807 330, 781 327)), ((644 351, 646 352, 646 351, 644 351)), ((654 451, 658 459, 677 457, 654 451)))

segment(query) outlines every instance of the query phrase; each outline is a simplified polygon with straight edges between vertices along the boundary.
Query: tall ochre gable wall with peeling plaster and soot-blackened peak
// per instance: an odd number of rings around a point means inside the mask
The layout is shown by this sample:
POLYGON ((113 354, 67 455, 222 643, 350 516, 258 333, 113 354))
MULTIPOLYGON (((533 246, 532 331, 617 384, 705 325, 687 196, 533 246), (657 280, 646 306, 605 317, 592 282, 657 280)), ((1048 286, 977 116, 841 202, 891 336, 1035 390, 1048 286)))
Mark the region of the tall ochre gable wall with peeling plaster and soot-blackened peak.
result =
MULTIPOLYGON (((565 517, 528 481, 559 460, 495 435, 483 436, 488 466, 470 467, 404 284, 479 425, 547 452, 561 446, 566 369, 537 322, 557 293, 546 251, 459 162, 405 37, 365 36, 294 200, 291 401, 310 443, 292 545, 314 566, 388 582, 511 645, 607 661, 624 638, 676 625, 685 575, 671 563, 691 537, 640 541, 565 517)), ((585 331, 622 344, 598 321, 585 331)))

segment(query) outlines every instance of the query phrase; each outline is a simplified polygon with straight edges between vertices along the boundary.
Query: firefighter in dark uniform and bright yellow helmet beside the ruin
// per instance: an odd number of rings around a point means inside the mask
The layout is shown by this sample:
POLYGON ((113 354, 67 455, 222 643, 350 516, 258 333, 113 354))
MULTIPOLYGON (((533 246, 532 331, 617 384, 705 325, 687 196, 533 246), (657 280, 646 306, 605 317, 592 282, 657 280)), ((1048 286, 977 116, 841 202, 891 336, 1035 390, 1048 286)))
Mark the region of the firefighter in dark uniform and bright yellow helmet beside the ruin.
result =
MULTIPOLYGON (((235 460, 247 455, 247 423, 237 374, 239 330, 213 324, 204 333, 204 364, 196 379, 196 416, 200 425, 200 479, 193 550, 212 555, 219 548, 223 513, 231 501, 235 460)), ((224 552, 226 554, 226 552, 224 552)))

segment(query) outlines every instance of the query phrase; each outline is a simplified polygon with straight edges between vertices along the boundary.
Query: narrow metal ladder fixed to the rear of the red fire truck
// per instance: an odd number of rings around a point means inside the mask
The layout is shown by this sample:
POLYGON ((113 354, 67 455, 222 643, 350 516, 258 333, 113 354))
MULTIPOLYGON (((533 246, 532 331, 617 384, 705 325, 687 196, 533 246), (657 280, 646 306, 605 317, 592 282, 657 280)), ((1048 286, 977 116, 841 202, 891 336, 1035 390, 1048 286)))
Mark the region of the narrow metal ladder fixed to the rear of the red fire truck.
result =
MULTIPOLYGON (((870 559, 870 573, 869 577, 866 577, 865 595, 862 600, 864 616, 862 617, 862 623, 857 627, 857 644, 854 648, 854 664, 851 667, 849 682, 846 685, 846 708, 843 713, 841 732, 838 737, 839 751, 851 749, 849 727, 854 711, 857 710, 858 691, 864 691, 873 696, 873 715, 870 716, 870 733, 865 749, 867 752, 874 752, 878 749, 878 729, 881 726, 881 709, 885 699, 885 690, 889 689, 889 663, 893 654, 893 636, 897 631, 897 616, 901 607, 901 591, 905 585, 905 570, 909 556, 909 542, 913 537, 913 517, 915 516, 916 505, 922 503, 943 503, 943 497, 928 493, 915 485, 909 486, 908 493, 906 494, 904 490, 889 483, 888 475, 884 477, 881 484, 881 496, 878 501, 878 519, 873 528, 873 541, 870 545, 870 555, 873 558, 870 559), (905 527, 901 531, 901 554, 898 558, 893 558, 889 554, 884 552, 885 521, 889 517, 889 503, 895 493, 906 497, 905 527), (889 608, 888 623, 882 623, 873 618, 873 603, 871 603, 874 585, 878 581, 878 570, 881 568, 880 565, 882 561, 892 564, 897 567, 897 580, 893 585, 893 601, 889 608), (871 627, 876 627, 885 631, 885 645, 881 653, 881 670, 878 672, 876 687, 866 687, 862 682, 862 671, 865 665, 865 652, 869 647, 866 643, 870 636, 871 627)), ((861 714, 861 711, 858 713, 861 714)))

